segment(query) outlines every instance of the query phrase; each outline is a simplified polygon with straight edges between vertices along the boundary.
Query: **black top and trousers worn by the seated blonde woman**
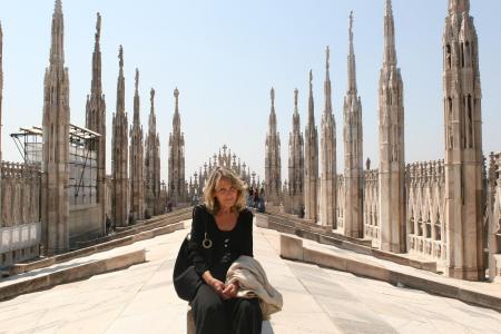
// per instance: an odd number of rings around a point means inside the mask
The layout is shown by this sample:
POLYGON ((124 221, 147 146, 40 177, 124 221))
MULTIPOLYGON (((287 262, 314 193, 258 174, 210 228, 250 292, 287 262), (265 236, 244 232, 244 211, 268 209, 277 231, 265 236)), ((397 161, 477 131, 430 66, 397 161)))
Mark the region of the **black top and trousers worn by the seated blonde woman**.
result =
MULTIPOLYGON (((252 212, 243 209, 232 230, 220 230, 204 205, 195 207, 188 248, 200 277, 210 271, 214 278, 225 282, 226 272, 238 256, 253 256, 252 212), (213 242, 209 250, 202 247, 205 233, 213 242)), ((224 301, 204 283, 191 301, 191 310, 197 334, 261 334, 263 315, 257 298, 224 301)))

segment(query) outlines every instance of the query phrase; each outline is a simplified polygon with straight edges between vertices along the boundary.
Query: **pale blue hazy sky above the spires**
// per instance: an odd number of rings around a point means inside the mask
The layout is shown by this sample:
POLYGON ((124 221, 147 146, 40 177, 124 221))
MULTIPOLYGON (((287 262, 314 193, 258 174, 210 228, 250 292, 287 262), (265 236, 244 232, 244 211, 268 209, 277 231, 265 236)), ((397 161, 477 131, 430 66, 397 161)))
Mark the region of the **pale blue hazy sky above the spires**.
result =
MULTIPOLYGON (((118 46, 124 46, 126 110, 132 117, 134 73, 140 71, 141 122, 148 127, 149 90, 156 89, 161 177, 167 178, 168 135, 179 89, 186 140, 186 175, 227 144, 264 176, 269 89, 287 178, 294 88, 301 125, 307 112, 313 69, 315 120, 324 104, 325 47, 337 127, 337 170, 343 170, 343 97, 346 91, 347 18, 354 11, 358 92, 363 105, 364 157, 377 161, 377 82, 383 56, 384 0, 63 0, 66 66, 71 122, 85 126, 90 90, 96 12, 102 16, 102 81, 107 104, 108 173, 111 117, 116 111, 118 46)), ((442 31, 448 0, 394 0, 396 52, 404 81, 407 163, 443 157, 442 31)), ((4 160, 20 160, 10 134, 41 125, 53 0, 0 1, 3 28, 4 160)), ((480 43, 483 149, 501 150, 501 1, 472 0, 480 43)), ((320 135, 320 134, 318 134, 320 135)), ((364 158, 365 159, 365 158, 364 158)), ((374 166, 374 165, 373 165, 374 166)))

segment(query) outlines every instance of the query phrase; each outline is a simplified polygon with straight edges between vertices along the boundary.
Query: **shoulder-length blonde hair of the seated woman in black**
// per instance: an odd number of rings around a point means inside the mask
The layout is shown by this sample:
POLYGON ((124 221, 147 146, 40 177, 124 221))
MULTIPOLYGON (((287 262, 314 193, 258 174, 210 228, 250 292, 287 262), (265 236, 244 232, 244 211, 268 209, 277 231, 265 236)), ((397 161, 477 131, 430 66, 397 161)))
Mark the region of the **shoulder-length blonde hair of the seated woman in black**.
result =
POLYGON ((212 212, 214 215, 217 215, 217 213, 220 209, 219 203, 217 202, 214 194, 216 193, 216 188, 219 185, 219 180, 224 178, 228 180, 232 184, 232 187, 234 187, 237 190, 237 199, 235 200, 234 206, 232 207, 232 210, 234 212, 240 212, 245 208, 245 190, 246 185, 244 181, 229 168, 226 168, 224 166, 217 166, 214 168, 214 170, 210 173, 210 176, 207 179, 207 184, 204 187, 204 204, 207 207, 209 212, 212 212))

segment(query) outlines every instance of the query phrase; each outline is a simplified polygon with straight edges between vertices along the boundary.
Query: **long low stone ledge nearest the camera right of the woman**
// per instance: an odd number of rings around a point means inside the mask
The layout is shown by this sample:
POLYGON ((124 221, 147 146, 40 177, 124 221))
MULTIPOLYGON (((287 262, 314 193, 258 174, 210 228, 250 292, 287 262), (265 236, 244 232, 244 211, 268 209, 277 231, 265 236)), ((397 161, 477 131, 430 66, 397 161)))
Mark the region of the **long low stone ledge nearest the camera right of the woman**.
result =
POLYGON ((356 259, 355 257, 350 257, 348 255, 340 256, 318 249, 312 249, 305 247, 302 239, 284 234, 281 234, 281 256, 287 259, 302 261, 342 272, 348 272, 357 276, 387 282, 393 285, 402 284, 406 287, 455 298, 501 312, 501 293, 493 288, 480 291, 481 284, 484 285, 482 288, 485 288, 492 283, 477 283, 479 286, 474 288, 466 286, 468 284, 471 284, 470 282, 464 283, 454 278, 438 277, 443 279, 433 279, 433 277, 420 277, 404 272, 385 268, 377 263, 366 263, 356 259), (297 247, 297 249, 293 249, 293 247, 297 247), (450 281, 444 282, 445 279, 450 281))

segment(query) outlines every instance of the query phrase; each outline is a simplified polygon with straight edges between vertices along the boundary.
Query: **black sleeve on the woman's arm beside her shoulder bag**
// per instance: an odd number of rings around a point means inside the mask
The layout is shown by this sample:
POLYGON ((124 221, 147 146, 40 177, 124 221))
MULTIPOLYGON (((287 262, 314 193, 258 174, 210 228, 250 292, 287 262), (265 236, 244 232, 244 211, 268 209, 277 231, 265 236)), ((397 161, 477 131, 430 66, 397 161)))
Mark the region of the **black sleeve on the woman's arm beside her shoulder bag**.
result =
POLYGON ((204 256, 204 250, 202 249, 202 240, 204 239, 205 233, 205 219, 207 213, 202 206, 196 206, 193 209, 191 219, 191 235, 188 243, 189 258, 191 259, 195 272, 202 276, 206 271, 208 271, 208 263, 204 256))

